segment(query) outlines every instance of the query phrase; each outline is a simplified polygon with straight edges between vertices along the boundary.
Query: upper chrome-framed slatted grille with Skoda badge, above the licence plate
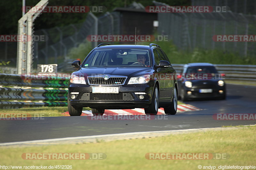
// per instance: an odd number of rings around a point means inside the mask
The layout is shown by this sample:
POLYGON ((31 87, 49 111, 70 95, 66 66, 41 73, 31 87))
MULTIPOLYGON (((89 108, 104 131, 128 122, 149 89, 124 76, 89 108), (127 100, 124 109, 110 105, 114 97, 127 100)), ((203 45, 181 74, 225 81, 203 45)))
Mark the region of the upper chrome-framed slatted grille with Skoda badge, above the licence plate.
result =
POLYGON ((125 79, 125 77, 111 77, 105 80, 102 77, 88 77, 89 84, 91 85, 122 85, 125 79))

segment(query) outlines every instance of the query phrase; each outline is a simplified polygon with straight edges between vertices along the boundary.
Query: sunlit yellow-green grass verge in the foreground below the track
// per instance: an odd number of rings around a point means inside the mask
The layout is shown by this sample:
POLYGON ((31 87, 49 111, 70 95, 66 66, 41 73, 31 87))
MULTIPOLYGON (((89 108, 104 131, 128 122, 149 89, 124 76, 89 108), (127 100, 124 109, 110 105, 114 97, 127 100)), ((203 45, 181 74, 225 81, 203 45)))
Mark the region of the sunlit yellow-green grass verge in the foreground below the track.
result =
POLYGON ((233 130, 206 131, 164 137, 117 140, 98 143, 45 145, 37 147, 0 148, 2 165, 49 166, 72 165, 80 169, 163 169, 198 170, 201 166, 255 166, 256 126, 233 130), (103 160, 24 160, 22 153, 105 153, 103 160), (229 159, 211 160, 148 160, 149 152, 228 153, 229 159))

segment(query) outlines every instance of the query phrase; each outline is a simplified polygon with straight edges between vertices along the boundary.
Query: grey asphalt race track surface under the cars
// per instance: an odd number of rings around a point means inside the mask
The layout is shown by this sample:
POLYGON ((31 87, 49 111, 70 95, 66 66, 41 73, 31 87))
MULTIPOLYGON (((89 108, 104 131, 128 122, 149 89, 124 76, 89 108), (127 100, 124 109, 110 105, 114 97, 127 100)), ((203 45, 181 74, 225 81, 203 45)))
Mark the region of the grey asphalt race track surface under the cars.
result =
MULTIPOLYGON (((126 132, 253 125, 255 120, 214 120, 218 113, 256 113, 256 87, 227 85, 227 100, 188 101, 203 110, 167 115, 167 120, 89 120, 88 116, 1 120, 0 143, 126 132)), ((162 116, 162 115, 159 115, 162 116)))

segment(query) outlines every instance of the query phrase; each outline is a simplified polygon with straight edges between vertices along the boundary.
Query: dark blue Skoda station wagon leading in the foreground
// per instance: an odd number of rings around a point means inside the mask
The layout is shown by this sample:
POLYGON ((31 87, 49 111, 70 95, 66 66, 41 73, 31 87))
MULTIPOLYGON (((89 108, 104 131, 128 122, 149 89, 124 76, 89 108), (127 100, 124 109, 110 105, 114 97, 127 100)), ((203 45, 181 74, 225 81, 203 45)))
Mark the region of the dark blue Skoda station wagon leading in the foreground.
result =
POLYGON ((146 114, 177 111, 178 85, 167 55, 156 44, 100 44, 84 59, 74 61, 68 87, 68 112, 81 115, 83 107, 103 115, 105 109, 144 108, 146 114))

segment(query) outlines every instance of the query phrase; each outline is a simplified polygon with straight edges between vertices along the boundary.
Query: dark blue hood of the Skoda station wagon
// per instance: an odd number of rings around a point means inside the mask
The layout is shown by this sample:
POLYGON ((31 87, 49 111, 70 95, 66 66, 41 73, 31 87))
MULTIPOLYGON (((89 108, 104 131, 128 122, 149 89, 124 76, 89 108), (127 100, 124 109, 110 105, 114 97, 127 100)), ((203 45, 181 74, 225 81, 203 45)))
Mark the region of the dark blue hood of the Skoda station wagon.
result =
POLYGON ((107 67, 86 67, 80 68, 79 70, 73 72, 73 74, 83 74, 84 77, 92 76, 92 75, 118 75, 118 76, 140 76, 144 74, 151 74, 154 70, 149 67, 114 67, 114 66, 107 66, 107 67))

